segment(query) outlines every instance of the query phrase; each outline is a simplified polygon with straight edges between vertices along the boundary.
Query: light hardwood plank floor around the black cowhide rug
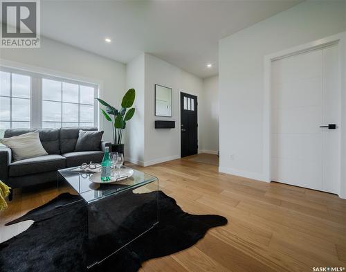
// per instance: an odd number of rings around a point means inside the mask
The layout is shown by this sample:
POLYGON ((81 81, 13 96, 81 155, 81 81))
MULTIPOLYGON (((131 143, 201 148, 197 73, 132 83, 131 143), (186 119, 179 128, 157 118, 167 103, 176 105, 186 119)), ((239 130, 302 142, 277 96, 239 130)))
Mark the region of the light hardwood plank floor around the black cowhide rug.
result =
MULTIPOLYGON (((186 212, 228 218, 226 226, 212 228, 191 248, 145 262, 141 272, 346 267, 346 200, 334 194, 221 174, 215 165, 185 158, 131 167, 158 176, 161 190, 186 212)), ((0 214, 0 240, 28 227, 28 223, 4 227, 6 221, 57 194, 54 187, 15 191, 8 210, 0 214)))

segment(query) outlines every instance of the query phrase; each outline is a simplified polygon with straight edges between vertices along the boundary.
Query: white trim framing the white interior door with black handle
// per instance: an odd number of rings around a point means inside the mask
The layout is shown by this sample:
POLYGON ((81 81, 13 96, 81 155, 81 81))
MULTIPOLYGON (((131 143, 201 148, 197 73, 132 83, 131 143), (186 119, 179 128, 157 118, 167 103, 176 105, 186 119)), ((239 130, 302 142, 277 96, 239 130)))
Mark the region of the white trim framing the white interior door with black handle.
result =
POLYGON ((297 55, 306 51, 315 50, 332 44, 338 44, 340 55, 340 80, 341 80, 341 124, 340 124, 340 198, 346 199, 346 32, 338 33, 323 39, 318 39, 307 44, 288 48, 284 51, 264 56, 264 100, 263 100, 263 181, 271 182, 271 62, 290 55, 297 55))

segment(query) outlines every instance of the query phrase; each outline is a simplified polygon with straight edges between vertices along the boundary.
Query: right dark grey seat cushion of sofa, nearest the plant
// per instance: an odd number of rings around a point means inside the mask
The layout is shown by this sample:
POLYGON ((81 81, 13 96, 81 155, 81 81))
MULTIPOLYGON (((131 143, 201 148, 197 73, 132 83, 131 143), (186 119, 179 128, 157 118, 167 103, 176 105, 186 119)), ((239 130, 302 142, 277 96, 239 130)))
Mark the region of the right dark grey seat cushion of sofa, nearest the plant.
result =
POLYGON ((102 151, 80 151, 62 154, 66 157, 66 167, 80 166, 82 163, 100 163, 103 158, 102 151))

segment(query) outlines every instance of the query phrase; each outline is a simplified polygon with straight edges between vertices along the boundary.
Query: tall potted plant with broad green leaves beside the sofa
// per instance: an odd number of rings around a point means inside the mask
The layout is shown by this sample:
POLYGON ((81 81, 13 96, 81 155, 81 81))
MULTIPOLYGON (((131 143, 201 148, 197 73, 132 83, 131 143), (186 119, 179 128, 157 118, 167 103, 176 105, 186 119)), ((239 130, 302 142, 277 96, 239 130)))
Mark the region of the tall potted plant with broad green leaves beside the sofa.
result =
POLYGON ((136 97, 136 91, 129 89, 122 98, 121 109, 118 111, 115 107, 109 105, 100 98, 96 98, 100 104, 105 107, 105 110, 101 108, 101 112, 107 121, 112 124, 113 132, 113 144, 111 145, 112 152, 119 152, 124 154, 124 144, 122 143, 122 132, 126 127, 126 122, 134 116, 136 109, 132 107, 134 105, 134 98, 136 97), (129 109, 131 108, 131 109, 129 109))

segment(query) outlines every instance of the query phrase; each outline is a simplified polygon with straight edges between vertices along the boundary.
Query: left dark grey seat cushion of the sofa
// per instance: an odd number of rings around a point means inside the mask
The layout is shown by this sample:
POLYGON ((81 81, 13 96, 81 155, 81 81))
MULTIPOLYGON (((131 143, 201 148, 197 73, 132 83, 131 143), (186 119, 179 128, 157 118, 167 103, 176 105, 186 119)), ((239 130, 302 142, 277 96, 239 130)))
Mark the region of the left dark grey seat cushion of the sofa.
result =
POLYGON ((10 164, 9 176, 24 176, 59 170, 66 167, 66 158, 60 155, 46 155, 26 158, 10 164))

